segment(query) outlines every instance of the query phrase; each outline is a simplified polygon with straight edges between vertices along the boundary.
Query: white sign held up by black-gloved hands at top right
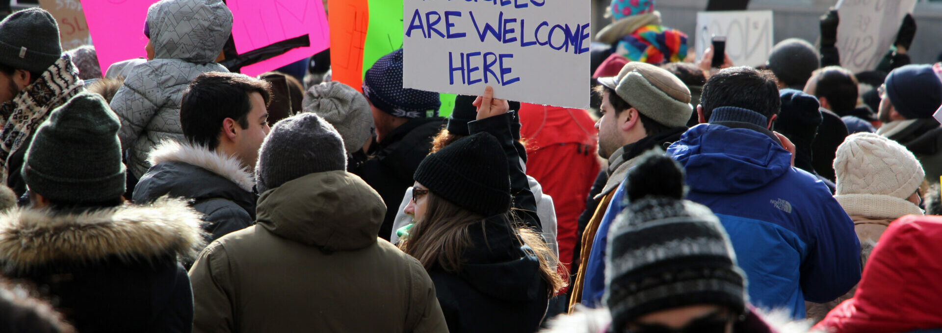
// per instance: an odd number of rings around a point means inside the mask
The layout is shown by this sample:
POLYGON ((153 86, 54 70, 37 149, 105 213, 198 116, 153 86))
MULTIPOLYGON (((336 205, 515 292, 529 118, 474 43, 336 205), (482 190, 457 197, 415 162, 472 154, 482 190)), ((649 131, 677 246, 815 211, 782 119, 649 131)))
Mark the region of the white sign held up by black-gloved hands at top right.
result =
POLYGON ((840 65, 853 72, 872 71, 896 40, 902 18, 917 0, 842 0, 837 3, 837 50, 840 65))

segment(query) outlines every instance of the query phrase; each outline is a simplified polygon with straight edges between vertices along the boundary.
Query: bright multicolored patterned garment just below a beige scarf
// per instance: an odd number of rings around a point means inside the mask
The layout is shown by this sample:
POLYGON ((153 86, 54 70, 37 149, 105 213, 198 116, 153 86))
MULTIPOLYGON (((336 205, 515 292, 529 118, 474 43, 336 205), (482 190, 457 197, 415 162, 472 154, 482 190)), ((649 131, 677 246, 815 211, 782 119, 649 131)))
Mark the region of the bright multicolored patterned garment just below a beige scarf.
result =
POLYGON ((619 40, 615 53, 656 65, 680 62, 687 56, 687 34, 661 25, 645 25, 619 40))

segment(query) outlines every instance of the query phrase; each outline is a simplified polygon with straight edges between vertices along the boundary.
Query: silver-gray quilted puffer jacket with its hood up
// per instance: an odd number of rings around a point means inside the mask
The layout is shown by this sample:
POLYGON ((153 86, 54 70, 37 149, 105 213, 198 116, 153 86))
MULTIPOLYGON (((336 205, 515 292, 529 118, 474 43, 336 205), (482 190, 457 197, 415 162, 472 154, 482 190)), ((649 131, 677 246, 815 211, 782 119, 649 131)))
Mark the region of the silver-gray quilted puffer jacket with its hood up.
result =
POLYGON ((163 0, 147 11, 147 23, 154 59, 135 67, 111 101, 136 178, 147 172, 158 142, 183 141, 180 100, 189 82, 206 71, 228 71, 213 61, 229 40, 233 15, 222 0, 163 0))

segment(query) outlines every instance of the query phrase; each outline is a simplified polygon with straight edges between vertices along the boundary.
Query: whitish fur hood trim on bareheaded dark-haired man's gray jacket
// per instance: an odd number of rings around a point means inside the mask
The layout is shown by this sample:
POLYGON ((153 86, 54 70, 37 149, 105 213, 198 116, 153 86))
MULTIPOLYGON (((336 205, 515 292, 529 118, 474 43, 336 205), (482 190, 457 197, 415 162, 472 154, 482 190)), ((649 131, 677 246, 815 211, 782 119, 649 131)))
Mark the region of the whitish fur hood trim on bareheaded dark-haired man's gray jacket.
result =
POLYGON ((255 179, 248 167, 242 165, 235 157, 223 155, 219 151, 209 151, 203 146, 189 143, 180 143, 166 140, 154 147, 148 159, 151 166, 164 162, 182 162, 188 165, 203 167, 219 176, 235 182, 239 188, 252 192, 255 179))

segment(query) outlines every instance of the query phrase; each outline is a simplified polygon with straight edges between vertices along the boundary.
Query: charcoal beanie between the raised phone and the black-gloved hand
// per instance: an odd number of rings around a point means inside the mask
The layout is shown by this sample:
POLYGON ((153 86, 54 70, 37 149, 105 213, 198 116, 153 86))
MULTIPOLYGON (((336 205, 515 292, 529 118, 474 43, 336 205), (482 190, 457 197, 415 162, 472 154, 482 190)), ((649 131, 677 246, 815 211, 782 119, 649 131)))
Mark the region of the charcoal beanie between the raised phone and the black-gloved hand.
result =
POLYGON ((820 64, 818 51, 802 39, 779 41, 772 47, 768 62, 769 70, 779 81, 798 90, 804 87, 811 78, 811 72, 820 64))

